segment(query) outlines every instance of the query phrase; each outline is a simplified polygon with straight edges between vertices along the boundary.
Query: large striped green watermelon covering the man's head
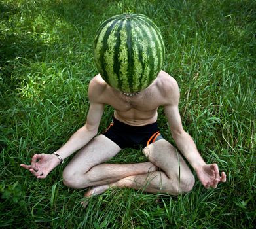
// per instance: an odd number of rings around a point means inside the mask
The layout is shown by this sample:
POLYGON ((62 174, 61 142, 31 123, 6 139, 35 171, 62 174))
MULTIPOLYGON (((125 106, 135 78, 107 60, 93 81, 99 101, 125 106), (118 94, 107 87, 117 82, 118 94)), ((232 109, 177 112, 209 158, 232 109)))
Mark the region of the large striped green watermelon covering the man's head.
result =
POLYGON ((96 31, 94 60, 107 84, 121 92, 139 92, 156 79, 162 68, 164 41, 147 16, 116 15, 96 31))

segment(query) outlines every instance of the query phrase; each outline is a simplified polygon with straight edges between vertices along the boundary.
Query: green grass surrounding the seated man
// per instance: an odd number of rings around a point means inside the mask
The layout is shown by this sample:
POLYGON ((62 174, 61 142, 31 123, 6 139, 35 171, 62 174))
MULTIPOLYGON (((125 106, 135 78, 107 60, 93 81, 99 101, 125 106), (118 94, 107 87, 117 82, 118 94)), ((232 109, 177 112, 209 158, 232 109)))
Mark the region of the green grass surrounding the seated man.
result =
MULTIPOLYGON (((254 1, 0 2, 1 228, 253 228, 255 223, 254 1), (84 190, 62 184, 64 166, 37 181, 20 163, 50 153, 84 124, 96 75, 92 44, 100 22, 146 14, 166 43, 164 70, 179 83, 185 130, 227 183, 173 197, 109 190, 87 209, 84 190)), ((106 107, 100 130, 111 120, 106 107)), ((160 129, 173 144, 159 111, 160 129)), ((115 163, 145 161, 125 149, 115 163)))

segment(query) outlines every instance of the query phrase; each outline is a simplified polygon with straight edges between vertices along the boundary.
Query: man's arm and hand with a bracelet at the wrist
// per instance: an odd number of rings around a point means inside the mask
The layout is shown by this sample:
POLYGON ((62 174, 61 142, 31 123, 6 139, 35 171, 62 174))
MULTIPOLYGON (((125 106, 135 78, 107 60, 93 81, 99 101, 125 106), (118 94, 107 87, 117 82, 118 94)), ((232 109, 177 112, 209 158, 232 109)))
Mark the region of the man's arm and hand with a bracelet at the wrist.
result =
MULTIPOLYGON (((63 160, 84 147, 97 134, 104 111, 104 104, 98 101, 98 97, 102 93, 100 89, 101 86, 93 79, 88 90, 90 107, 86 123, 56 151, 63 160)), ((20 166, 31 171, 37 178, 45 178, 58 164, 60 164, 60 160, 55 154, 35 154, 32 157, 31 165, 21 164, 20 166)))

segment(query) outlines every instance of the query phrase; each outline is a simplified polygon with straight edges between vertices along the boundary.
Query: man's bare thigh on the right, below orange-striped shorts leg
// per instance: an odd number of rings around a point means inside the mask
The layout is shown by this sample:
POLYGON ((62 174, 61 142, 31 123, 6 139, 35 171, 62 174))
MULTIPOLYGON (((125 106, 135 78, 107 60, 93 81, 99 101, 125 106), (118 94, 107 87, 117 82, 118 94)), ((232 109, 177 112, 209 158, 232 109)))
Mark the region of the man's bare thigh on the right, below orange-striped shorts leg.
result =
POLYGON ((149 161, 159 167, 171 179, 174 175, 181 179, 191 176, 191 170, 187 166, 181 154, 171 143, 160 139, 143 149, 143 153, 149 161))

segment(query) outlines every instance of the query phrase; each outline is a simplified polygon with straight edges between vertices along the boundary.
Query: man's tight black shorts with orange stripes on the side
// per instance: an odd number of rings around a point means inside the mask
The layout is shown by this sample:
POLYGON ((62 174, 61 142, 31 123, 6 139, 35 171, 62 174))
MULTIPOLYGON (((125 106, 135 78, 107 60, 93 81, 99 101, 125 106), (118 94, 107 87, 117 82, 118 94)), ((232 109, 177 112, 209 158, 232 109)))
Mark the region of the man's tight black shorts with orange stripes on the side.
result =
POLYGON ((162 139, 157 123, 145 126, 130 126, 120 122, 116 118, 109 125, 109 128, 102 133, 121 149, 146 147, 147 145, 162 139))

